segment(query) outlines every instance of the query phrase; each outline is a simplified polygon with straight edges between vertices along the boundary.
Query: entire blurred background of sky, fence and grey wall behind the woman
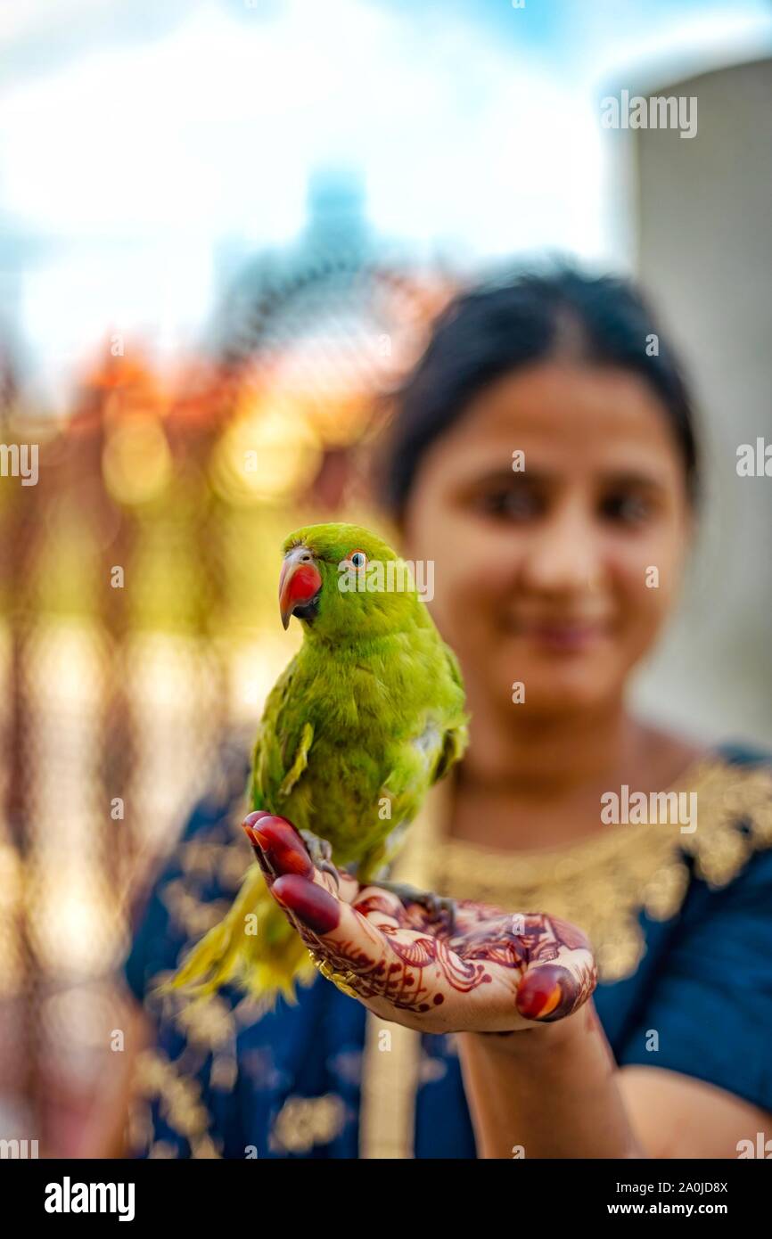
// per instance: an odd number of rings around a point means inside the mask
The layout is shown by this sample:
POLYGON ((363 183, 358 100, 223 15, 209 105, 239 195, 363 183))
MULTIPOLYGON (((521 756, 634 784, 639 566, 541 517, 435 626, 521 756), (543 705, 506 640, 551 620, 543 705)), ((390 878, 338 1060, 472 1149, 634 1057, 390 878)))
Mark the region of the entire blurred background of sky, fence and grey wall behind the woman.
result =
POLYGON ((378 520, 378 396, 460 284, 641 279, 709 497, 639 704, 772 745, 771 48, 766 0, 4 0, 1 1136, 77 1152, 131 909, 295 649, 280 543, 378 520), (623 90, 696 135, 605 128, 623 90))

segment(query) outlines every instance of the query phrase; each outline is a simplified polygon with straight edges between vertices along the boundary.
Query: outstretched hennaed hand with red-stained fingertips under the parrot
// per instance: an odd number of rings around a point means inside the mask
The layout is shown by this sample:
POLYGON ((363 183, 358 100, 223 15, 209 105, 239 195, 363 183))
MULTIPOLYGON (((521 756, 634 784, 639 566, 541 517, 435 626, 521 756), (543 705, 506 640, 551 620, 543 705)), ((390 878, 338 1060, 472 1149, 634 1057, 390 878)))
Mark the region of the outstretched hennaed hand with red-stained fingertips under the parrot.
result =
POLYGON ((274 900, 320 971, 384 1020, 420 1032, 514 1032, 561 1020, 592 994, 584 933, 546 913, 437 909, 317 869, 295 826, 250 813, 244 830, 274 900))

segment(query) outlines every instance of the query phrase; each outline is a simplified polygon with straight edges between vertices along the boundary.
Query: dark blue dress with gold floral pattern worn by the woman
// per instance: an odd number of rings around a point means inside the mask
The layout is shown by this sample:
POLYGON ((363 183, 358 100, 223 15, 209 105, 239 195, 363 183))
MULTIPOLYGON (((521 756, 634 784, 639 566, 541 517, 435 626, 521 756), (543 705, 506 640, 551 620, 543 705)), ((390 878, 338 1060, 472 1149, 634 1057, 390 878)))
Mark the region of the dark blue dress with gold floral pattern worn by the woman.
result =
MULTIPOLYGON (((654 867, 643 852, 633 862, 636 849, 654 847, 646 839, 654 828, 616 825, 608 830, 632 833, 629 846, 603 854, 601 843, 597 864, 592 844, 580 849, 581 882, 570 867, 560 872, 574 892, 596 873, 587 903, 596 932, 577 923, 605 961, 595 1005, 616 1062, 680 1072, 772 1111, 772 769, 729 746, 708 766, 696 830, 657 828, 654 867)), ((124 971, 156 1041, 141 1056, 134 1152, 354 1158, 368 1016, 359 1002, 318 975, 299 987, 297 1005, 280 999, 265 1012, 230 990, 198 1007, 151 994, 219 919, 253 859, 239 828, 245 777, 240 753, 224 762, 226 786, 196 808, 138 917, 124 971)), ((559 887, 550 891, 558 898, 559 887)), ((551 902, 532 908, 565 914, 551 902)), ((420 1062, 406 1156, 475 1157, 455 1038, 413 1036, 420 1062)))

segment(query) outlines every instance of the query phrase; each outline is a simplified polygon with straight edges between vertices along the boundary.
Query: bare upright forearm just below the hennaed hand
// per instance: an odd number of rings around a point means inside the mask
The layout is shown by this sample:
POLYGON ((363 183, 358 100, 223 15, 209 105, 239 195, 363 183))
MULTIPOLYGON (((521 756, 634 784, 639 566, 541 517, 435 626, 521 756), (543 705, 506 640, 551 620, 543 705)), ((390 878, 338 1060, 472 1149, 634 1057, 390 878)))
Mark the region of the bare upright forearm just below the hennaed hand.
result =
POLYGON ((592 1000, 509 1036, 458 1033, 481 1157, 646 1157, 592 1000))

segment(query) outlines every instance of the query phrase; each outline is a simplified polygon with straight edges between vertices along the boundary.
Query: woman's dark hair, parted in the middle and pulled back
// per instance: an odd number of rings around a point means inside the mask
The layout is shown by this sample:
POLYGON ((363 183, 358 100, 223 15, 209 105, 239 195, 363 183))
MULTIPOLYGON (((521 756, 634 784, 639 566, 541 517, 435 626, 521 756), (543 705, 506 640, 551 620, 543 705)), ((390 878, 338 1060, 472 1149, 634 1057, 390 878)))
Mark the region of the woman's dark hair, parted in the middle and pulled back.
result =
POLYGON ((570 352, 632 370, 659 398, 678 442, 690 502, 699 492, 694 411, 680 366, 636 286, 560 266, 482 284, 454 297, 392 395, 383 498, 399 519, 424 453, 494 379, 570 352))

